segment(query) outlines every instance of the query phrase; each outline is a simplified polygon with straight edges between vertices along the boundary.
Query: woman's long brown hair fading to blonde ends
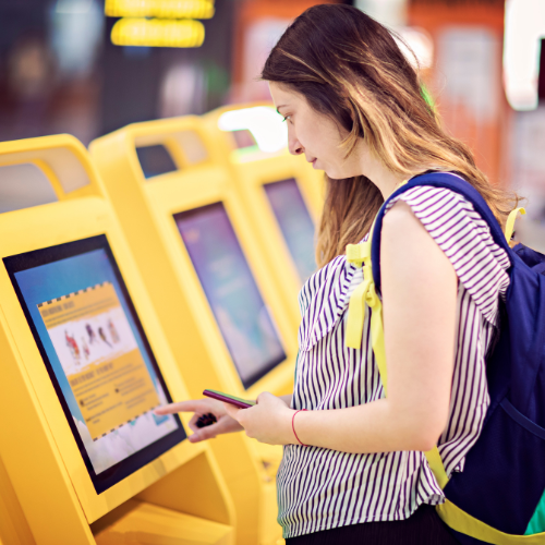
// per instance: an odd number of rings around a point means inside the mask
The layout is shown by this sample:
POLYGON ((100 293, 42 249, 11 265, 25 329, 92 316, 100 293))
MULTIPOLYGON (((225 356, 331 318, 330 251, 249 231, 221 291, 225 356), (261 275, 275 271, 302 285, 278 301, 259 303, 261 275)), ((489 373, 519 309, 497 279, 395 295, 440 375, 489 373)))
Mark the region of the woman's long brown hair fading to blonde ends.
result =
MULTIPOLYGON (((469 147, 445 132, 422 96, 417 71, 391 33, 356 8, 307 9, 272 48, 262 78, 289 86, 348 131, 341 144, 347 156, 364 137, 371 152, 404 178, 428 170, 458 172, 486 199, 500 225, 518 202, 493 186, 469 147)), ((376 185, 363 175, 326 179, 319 266, 359 242, 383 204, 376 185)))

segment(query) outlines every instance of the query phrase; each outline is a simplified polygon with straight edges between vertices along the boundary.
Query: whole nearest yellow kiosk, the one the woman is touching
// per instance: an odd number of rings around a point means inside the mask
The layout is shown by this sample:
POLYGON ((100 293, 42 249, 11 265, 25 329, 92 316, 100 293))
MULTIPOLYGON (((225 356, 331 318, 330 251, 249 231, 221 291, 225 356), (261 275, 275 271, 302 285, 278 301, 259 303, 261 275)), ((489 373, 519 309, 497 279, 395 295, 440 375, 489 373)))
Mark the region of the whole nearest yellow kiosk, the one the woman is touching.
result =
POLYGON ((85 148, 0 144, 28 165, 60 202, 0 215, 0 538, 234 544, 209 448, 153 412, 187 393, 85 148))

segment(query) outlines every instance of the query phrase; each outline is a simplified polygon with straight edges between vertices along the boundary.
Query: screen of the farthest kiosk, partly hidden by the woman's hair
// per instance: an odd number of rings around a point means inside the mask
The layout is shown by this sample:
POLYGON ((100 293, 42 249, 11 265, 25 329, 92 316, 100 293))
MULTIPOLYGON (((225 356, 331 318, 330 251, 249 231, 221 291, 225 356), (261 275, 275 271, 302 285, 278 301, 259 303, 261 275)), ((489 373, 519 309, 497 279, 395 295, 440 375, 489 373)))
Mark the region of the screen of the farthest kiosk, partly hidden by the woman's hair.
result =
POLYGON ((264 189, 303 284, 316 271, 314 222, 303 195, 293 178, 267 183, 264 189))

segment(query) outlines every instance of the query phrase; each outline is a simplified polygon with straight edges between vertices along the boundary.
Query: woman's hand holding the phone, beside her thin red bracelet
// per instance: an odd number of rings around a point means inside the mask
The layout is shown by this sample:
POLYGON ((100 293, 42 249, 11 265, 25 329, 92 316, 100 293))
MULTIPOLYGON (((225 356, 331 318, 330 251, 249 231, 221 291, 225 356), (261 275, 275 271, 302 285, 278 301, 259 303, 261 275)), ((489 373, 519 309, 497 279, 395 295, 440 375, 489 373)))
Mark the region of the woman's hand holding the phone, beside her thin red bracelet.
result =
POLYGON ((286 401, 265 391, 257 397, 257 404, 250 409, 237 409, 225 403, 226 411, 252 439, 268 445, 291 445, 296 441, 291 428, 293 410, 286 401))

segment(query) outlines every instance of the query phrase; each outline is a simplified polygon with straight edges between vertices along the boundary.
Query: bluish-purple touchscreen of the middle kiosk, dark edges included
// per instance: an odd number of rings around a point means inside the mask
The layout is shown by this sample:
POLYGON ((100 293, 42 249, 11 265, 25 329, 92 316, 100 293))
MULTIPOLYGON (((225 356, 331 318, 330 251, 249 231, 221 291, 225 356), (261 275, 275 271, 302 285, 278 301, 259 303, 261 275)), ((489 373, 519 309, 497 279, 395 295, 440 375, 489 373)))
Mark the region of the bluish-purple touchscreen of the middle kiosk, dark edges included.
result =
POLYGON ((237 234, 221 203, 174 216, 244 388, 286 360, 237 234))

